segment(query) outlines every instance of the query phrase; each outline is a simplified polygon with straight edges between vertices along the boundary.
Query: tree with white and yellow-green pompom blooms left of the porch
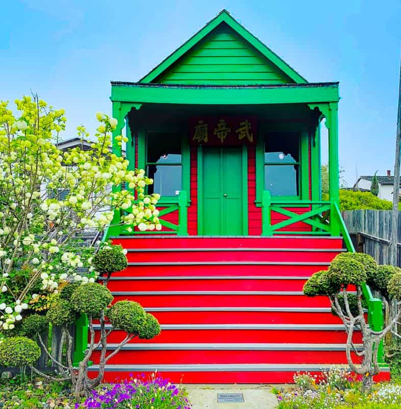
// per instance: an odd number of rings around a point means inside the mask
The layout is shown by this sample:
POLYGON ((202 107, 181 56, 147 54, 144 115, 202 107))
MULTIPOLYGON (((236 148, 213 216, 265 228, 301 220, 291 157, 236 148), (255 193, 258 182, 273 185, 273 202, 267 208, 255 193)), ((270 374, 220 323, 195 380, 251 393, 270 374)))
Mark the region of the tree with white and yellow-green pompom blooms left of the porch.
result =
MULTIPOLYGON (((45 310, 49 295, 65 281, 93 282, 94 248, 77 237, 103 230, 114 211, 127 211, 128 229, 160 230, 156 203, 145 195, 153 180, 110 152, 117 120, 97 113, 90 150, 62 152, 55 140, 64 130, 63 109, 37 97, 0 102, 0 329, 12 330, 29 310, 45 310), (125 183, 128 190, 111 189, 125 183), (81 275, 79 269, 89 274, 81 275)), ((78 128, 82 139, 89 134, 78 128)), ((122 135, 121 142, 127 139, 122 135)))

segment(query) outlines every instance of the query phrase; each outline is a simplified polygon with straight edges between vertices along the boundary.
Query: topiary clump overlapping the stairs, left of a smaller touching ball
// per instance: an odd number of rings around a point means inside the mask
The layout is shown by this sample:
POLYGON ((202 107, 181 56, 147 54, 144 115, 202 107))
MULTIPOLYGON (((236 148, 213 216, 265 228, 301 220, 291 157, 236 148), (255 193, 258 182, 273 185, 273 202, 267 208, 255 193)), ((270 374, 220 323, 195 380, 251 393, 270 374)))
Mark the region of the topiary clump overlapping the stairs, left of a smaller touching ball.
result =
POLYGON ((145 324, 146 312, 133 301, 118 301, 108 311, 111 325, 129 334, 139 334, 145 324))

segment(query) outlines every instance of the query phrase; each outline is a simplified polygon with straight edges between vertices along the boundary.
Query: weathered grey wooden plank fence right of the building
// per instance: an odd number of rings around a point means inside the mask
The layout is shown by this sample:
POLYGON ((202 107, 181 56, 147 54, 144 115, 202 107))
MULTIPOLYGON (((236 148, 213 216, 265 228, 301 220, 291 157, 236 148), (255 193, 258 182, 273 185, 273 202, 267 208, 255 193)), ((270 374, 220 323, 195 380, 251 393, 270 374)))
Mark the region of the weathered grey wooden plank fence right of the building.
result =
MULTIPOLYGON (((352 210, 342 212, 357 251, 369 254, 379 264, 390 264, 391 211, 352 210)), ((401 266, 401 215, 398 218, 397 265, 401 266)))

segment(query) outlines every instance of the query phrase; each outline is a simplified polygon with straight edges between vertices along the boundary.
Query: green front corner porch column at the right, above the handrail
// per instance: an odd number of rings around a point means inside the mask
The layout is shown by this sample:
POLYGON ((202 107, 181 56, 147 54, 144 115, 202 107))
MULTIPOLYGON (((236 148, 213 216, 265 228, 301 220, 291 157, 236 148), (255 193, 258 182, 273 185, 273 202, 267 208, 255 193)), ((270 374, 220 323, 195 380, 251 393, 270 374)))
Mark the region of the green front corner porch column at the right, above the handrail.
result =
MULTIPOLYGON (((338 102, 328 104, 326 114, 326 126, 329 129, 329 193, 331 205, 331 214, 335 214, 335 203, 340 205, 339 198, 339 164, 338 164, 338 102)), ((340 226, 337 218, 332 217, 332 235, 340 234, 340 226)))

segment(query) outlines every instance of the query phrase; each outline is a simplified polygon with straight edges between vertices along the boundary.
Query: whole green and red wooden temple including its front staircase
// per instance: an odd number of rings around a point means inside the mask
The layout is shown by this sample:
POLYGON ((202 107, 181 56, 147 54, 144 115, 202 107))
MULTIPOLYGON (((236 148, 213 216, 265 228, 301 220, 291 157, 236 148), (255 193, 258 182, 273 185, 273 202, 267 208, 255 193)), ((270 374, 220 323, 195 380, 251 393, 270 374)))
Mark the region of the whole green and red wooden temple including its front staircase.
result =
MULTIPOLYGON (((308 82, 223 10, 138 82, 112 82, 111 101, 114 136, 126 133, 130 166, 161 195, 163 228, 109 228, 129 259, 109 287, 154 313, 162 332, 125 346, 106 379, 157 369, 184 383, 287 382, 344 364, 329 300, 302 292, 353 251, 339 212, 338 82, 308 82)), ((116 141, 113 150, 121 155, 116 141)))

